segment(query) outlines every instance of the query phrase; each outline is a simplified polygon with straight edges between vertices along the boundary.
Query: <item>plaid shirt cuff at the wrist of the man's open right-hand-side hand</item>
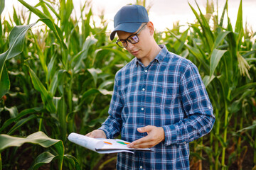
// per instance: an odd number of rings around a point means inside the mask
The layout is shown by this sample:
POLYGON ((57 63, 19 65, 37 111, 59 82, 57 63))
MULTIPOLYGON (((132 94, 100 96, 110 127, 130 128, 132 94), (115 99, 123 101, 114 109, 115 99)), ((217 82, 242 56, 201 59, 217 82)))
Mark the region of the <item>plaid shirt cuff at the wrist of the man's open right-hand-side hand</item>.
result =
POLYGON ((162 126, 164 129, 164 145, 168 146, 177 143, 177 130, 174 125, 162 126))

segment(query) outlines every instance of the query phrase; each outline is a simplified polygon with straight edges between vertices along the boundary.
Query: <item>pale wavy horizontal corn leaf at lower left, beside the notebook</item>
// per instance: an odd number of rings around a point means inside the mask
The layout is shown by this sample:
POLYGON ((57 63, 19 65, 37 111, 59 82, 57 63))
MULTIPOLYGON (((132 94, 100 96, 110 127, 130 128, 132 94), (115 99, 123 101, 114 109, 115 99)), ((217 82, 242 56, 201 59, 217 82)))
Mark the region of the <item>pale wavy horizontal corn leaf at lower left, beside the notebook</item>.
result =
MULTIPOLYGON (((36 145, 41 145, 42 147, 50 147, 57 144, 58 142, 61 142, 61 141, 51 139, 43 132, 35 132, 26 138, 12 137, 10 135, 1 134, 0 135, 0 152, 8 147, 20 147, 24 143, 33 143, 36 145)), ((61 144, 58 144, 58 145, 61 145, 61 144)))

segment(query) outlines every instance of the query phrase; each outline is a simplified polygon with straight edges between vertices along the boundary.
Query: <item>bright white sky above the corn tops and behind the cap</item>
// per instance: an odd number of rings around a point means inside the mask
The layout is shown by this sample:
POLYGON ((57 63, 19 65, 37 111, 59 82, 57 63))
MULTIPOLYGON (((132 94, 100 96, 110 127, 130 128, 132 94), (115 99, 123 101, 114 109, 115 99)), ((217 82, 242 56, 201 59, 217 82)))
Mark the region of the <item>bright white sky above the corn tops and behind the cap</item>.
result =
MULTIPOLYGON (((25 0, 28 4, 36 5, 38 0, 25 0)), ((58 0, 57 0, 58 1, 58 0)), ((210 1, 210 0, 209 0, 210 1)), ((220 16, 226 0, 213 0, 215 6, 218 1, 218 15, 220 16)), ((75 6, 75 12, 80 16, 80 4, 84 3, 85 0, 73 0, 75 6)), ((105 13, 105 19, 108 23, 108 30, 112 30, 114 27, 113 18, 115 13, 127 4, 134 4, 136 0, 92 0, 92 13, 95 16, 100 15, 102 11, 105 13)), ((166 28, 172 28, 173 23, 179 21, 180 25, 186 25, 187 23, 194 23, 196 16, 193 14, 191 7, 198 11, 194 0, 147 0, 146 6, 151 6, 149 10, 149 20, 154 23, 156 30, 166 30, 166 28)), ((13 6, 16 8, 22 8, 21 4, 17 0, 6 0, 5 9, 2 16, 8 18, 9 14, 13 12, 13 6), (4 14, 4 15, 3 15, 4 14)), ((197 3, 203 13, 205 13, 206 0, 197 0, 197 3)), ((238 7, 240 0, 228 0, 228 16, 230 17, 233 27, 235 27, 235 21, 237 18, 238 7)), ((254 32, 256 31, 256 0, 242 0, 242 12, 243 12, 243 25, 245 21, 252 27, 254 32)), ((3 18, 3 17, 1 17, 3 18)), ((36 17, 32 18, 35 21, 36 17)), ((97 21, 97 17, 94 17, 97 21)), ((224 23, 226 23, 224 21, 224 23)))

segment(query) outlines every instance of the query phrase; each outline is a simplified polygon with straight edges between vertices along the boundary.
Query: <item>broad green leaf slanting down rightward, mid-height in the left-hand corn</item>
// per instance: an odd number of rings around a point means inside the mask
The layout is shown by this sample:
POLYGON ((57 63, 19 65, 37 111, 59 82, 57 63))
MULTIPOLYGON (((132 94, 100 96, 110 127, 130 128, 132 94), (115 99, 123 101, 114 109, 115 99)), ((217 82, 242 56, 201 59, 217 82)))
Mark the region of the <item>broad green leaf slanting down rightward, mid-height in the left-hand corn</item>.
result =
POLYGON ((41 81, 36 76, 35 72, 33 72, 33 70, 30 67, 28 67, 28 71, 31 76, 32 84, 34 88, 40 92, 43 103, 46 105, 46 109, 50 113, 55 113, 56 108, 54 106, 53 97, 50 95, 50 92, 46 90, 46 87, 43 86, 41 81))

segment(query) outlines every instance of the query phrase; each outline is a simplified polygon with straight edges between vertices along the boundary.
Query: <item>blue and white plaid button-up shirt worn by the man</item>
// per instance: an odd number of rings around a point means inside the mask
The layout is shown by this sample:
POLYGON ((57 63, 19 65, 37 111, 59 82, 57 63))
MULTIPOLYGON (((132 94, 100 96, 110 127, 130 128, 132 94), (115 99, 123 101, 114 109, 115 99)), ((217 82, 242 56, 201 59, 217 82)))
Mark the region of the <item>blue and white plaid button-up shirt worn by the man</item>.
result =
POLYGON ((164 128, 165 140, 154 152, 122 152, 117 169, 189 169, 189 142, 206 135, 215 117, 197 67, 164 45, 147 66, 136 57, 114 79, 109 117, 102 124, 107 138, 133 142, 146 136, 137 128, 164 128))

